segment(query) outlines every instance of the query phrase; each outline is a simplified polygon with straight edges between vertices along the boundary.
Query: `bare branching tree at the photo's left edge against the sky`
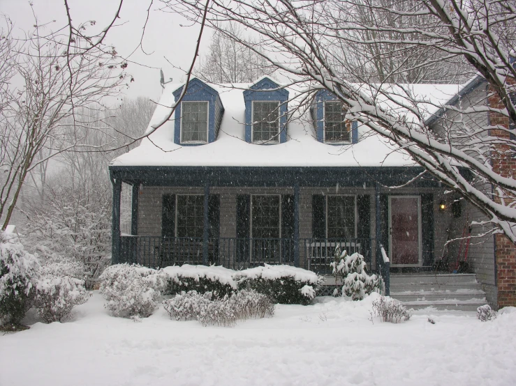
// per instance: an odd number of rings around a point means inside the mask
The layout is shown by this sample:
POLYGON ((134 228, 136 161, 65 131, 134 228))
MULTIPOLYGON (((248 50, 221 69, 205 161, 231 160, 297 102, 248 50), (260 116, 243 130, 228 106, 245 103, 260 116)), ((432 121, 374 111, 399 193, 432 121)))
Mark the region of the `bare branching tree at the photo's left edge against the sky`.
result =
POLYGON ((22 39, 10 33, 10 20, 4 24, 7 33, 2 35, 0 63, 7 77, 15 77, 17 82, 0 86, 2 229, 13 215, 29 172, 81 145, 83 138, 78 135, 65 141, 66 120, 80 128, 83 123, 78 111, 103 109, 104 98, 117 95, 125 85, 127 65, 120 61, 115 47, 85 35, 94 22, 76 30, 68 24, 69 33, 65 33, 68 30, 50 31, 35 17, 34 30, 22 39))

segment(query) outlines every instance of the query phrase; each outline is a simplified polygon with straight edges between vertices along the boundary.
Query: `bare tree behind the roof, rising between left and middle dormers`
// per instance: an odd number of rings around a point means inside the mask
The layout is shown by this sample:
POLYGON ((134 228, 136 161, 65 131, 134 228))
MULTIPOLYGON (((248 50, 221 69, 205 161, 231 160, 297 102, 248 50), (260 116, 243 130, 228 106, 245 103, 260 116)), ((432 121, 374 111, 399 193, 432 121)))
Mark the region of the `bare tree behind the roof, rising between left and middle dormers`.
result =
MULTIPOLYGON (((273 75, 274 66, 253 49, 238 43, 244 38, 242 29, 230 24, 226 30, 216 30, 209 44, 207 56, 194 73, 212 83, 253 82, 263 75, 273 75)), ((258 40, 248 38, 249 43, 258 40)), ((259 46, 259 45, 258 45, 259 46)))

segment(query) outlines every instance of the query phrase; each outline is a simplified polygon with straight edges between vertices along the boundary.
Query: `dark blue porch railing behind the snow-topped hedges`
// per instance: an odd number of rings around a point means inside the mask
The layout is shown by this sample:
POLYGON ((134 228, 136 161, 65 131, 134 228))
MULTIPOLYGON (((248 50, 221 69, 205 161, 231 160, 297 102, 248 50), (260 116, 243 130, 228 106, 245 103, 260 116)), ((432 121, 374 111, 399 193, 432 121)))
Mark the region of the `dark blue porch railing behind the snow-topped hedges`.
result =
MULTIPOLYGON (((299 265, 320 275, 331 275, 337 245, 348 254, 364 256, 369 272, 374 268, 371 238, 348 240, 300 238, 299 265)), ((138 263, 148 267, 182 264, 216 264, 234 270, 267 264, 295 265, 293 238, 209 238, 207 261, 203 258, 202 238, 163 238, 161 236, 121 236, 119 263, 138 263)))

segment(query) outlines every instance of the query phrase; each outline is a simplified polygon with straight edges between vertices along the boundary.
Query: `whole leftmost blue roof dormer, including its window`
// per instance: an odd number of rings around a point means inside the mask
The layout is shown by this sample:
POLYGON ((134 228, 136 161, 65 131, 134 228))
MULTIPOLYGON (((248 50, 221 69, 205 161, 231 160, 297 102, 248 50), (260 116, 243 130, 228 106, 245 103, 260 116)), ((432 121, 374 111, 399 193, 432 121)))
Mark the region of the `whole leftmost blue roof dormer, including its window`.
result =
POLYGON ((181 102, 175 109, 174 143, 181 146, 211 144, 216 140, 221 127, 224 107, 212 86, 194 78, 186 93, 184 86, 174 91, 175 102, 181 102))

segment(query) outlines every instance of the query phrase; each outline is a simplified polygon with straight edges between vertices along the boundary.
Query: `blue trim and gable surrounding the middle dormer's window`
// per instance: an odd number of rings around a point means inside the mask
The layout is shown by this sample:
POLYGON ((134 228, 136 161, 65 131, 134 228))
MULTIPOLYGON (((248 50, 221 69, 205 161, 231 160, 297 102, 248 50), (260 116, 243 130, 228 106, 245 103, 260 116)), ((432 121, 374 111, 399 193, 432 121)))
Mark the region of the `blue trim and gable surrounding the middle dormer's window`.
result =
POLYGON ((245 139, 251 144, 253 142, 253 101, 279 102, 279 142, 270 144, 283 144, 287 141, 287 112, 288 112, 288 91, 281 88, 279 84, 269 77, 258 80, 249 90, 244 91, 244 102, 246 106, 246 128, 245 139))

